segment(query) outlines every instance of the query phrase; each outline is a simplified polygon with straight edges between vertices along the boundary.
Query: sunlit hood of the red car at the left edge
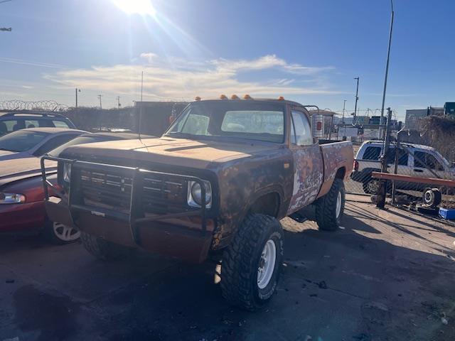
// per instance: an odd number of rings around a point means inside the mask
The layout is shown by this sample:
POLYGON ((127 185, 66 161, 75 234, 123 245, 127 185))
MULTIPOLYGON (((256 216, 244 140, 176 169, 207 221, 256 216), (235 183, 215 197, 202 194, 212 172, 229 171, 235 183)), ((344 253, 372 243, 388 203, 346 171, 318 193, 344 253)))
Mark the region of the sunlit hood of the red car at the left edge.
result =
MULTIPOLYGON (((55 161, 46 161, 45 166, 49 173, 57 170, 55 161)), ((40 159, 36 157, 0 161, 0 186, 40 174, 40 159)))

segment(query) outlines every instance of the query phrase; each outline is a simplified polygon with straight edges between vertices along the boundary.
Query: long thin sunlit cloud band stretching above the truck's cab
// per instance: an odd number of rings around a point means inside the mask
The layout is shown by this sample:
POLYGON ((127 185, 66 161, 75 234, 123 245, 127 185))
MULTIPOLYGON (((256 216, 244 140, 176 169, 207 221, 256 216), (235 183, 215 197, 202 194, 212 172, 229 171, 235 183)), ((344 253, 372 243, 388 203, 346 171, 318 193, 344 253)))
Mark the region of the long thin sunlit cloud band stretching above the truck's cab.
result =
POLYGON ((217 59, 205 62, 164 59, 154 53, 142 53, 139 57, 144 61, 141 65, 93 66, 61 70, 44 77, 62 87, 136 95, 140 89, 141 72, 144 71, 144 98, 148 100, 188 100, 195 95, 207 98, 232 93, 272 97, 279 94, 339 93, 319 84, 319 75, 332 70, 332 67, 289 64, 276 55, 264 55, 251 60, 217 59), (269 79, 256 77, 253 80, 244 74, 256 70, 269 70, 275 76, 269 79), (239 80, 240 75, 242 80, 239 80), (308 86, 294 85, 299 80, 305 80, 308 86))

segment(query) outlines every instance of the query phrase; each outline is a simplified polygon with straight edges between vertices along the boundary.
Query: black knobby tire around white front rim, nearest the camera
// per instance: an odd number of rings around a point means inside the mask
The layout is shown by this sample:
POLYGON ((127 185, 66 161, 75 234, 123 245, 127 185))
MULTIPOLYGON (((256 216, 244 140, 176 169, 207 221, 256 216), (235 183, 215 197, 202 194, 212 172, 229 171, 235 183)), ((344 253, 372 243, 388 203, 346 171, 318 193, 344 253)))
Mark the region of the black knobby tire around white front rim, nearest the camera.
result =
POLYGON ((230 246, 223 253, 221 291, 232 305, 256 310, 267 303, 277 288, 283 261, 283 229, 274 217, 247 215, 230 246), (274 270, 267 286, 259 288, 258 269, 265 244, 276 248, 274 270))

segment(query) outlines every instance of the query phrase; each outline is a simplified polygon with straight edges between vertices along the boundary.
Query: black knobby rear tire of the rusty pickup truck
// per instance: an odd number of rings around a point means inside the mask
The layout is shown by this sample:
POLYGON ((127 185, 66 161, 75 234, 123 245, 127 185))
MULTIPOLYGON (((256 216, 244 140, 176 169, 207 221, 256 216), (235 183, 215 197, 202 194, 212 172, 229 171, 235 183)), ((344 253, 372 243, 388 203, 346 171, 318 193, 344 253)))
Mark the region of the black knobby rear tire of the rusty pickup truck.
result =
POLYGON ((341 179, 333 180, 332 187, 326 195, 316 200, 316 222, 323 231, 336 231, 343 217, 346 192, 341 179), (341 193, 341 211, 336 216, 336 200, 341 193))

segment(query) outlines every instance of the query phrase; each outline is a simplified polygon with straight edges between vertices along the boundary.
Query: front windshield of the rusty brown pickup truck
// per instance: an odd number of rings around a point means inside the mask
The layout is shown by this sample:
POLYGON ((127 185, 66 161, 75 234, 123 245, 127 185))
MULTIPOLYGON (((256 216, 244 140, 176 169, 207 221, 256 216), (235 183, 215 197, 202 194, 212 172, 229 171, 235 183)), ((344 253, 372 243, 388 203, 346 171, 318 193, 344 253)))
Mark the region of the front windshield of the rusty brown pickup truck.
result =
POLYGON ((194 102, 183 110, 165 135, 223 136, 281 144, 284 105, 246 100, 194 102))

